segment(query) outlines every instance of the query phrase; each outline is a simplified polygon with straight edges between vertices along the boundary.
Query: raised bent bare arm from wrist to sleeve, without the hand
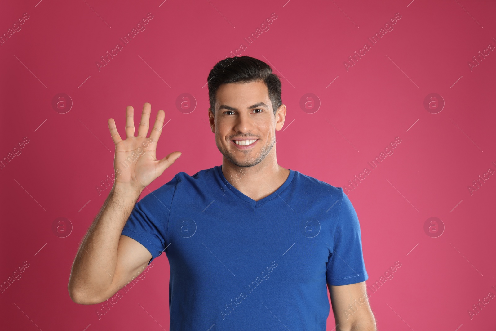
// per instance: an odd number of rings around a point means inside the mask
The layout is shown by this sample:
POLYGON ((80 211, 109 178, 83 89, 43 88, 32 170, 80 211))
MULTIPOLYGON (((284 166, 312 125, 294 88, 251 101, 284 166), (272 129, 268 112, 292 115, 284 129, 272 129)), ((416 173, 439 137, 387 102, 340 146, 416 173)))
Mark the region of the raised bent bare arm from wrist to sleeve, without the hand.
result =
POLYGON ((121 235, 139 194, 119 186, 110 191, 74 259, 68 284, 72 301, 95 304, 107 300, 150 261, 146 248, 121 235), (114 281, 124 284, 118 287, 114 281))

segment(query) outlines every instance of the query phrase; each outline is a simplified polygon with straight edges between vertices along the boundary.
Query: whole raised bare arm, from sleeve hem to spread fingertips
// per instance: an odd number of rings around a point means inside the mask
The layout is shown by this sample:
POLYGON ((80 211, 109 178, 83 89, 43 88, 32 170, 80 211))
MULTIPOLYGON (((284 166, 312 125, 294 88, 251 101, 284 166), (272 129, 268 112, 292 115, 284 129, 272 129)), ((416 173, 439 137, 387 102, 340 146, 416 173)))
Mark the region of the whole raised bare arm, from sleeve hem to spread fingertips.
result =
POLYGON ((134 136, 133 108, 126 108, 126 139, 122 140, 115 122, 109 129, 116 144, 114 187, 91 224, 72 264, 67 289, 72 301, 96 304, 112 297, 148 265, 152 255, 127 236, 121 235, 124 224, 143 189, 181 156, 173 152, 156 160, 156 145, 165 118, 159 110, 149 138, 151 105, 145 103, 134 136))

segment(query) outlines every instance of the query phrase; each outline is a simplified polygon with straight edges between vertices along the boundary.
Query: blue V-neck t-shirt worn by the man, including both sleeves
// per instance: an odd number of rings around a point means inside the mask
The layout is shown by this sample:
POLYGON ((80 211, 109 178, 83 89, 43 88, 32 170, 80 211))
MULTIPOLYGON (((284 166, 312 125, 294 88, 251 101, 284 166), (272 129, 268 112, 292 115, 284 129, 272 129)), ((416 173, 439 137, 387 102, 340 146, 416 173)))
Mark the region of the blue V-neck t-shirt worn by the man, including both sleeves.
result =
POLYGON ((326 284, 369 278, 343 189, 291 169, 258 201, 222 166, 180 172, 135 204, 122 234, 150 262, 165 251, 171 331, 324 331, 326 284))

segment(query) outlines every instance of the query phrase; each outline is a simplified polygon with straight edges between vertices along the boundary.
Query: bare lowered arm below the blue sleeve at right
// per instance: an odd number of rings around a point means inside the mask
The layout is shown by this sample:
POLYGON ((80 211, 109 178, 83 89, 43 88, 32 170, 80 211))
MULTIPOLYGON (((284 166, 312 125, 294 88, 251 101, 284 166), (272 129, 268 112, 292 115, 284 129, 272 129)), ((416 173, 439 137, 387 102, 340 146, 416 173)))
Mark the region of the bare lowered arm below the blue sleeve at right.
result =
POLYGON ((365 281, 333 286, 327 284, 331 296, 336 331, 376 331, 375 318, 367 299, 365 281))

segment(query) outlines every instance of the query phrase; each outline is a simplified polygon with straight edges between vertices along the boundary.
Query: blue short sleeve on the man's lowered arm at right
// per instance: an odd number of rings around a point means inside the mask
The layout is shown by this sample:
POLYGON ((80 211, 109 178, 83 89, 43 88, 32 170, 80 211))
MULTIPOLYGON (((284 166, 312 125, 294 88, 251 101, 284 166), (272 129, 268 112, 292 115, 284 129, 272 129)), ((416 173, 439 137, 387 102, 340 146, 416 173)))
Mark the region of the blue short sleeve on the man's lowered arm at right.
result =
POLYGON ((334 231, 334 247, 327 262, 330 285, 348 285, 369 279, 362 252, 362 237, 357 213, 343 189, 339 216, 334 231))

